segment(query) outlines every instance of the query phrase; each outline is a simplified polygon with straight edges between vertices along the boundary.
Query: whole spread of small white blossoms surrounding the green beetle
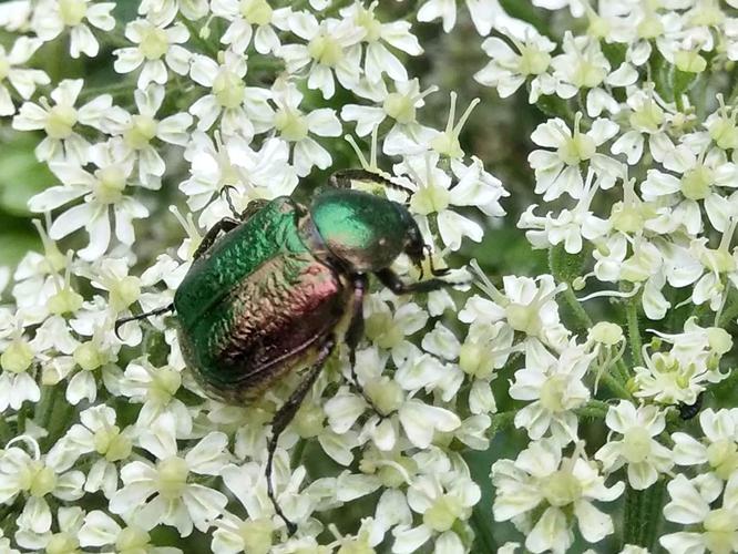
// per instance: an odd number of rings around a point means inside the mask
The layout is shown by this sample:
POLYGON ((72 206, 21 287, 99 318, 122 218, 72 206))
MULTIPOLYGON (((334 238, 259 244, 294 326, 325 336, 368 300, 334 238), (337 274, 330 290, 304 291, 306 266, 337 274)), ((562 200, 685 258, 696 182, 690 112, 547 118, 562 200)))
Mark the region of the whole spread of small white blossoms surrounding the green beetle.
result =
MULTIPOLYGON (((543 207, 517 224, 550 271, 496 285, 467 255, 509 195, 462 137, 483 106, 458 115, 450 92, 448 117, 429 113, 439 86, 412 74, 404 8, 142 0, 123 21, 124 2, 0 4, 0 116, 35 133, 57 179, 29 203, 43 250, 0 268, 2 552, 455 554, 510 523, 531 552, 738 550, 738 409, 711 397, 732 381, 738 316, 736 2, 532 3, 533 22, 502 0, 459 18, 495 30, 476 81, 502 99, 525 85, 550 117, 527 157, 543 207), (565 7, 555 21, 582 32, 543 32, 565 7), (50 48, 98 58, 107 82, 52 82, 50 48), (265 471, 303 375, 222 403, 185 367, 176 315, 116 321, 170 306, 208 229, 300 195, 347 143, 406 192, 352 186, 404 203, 428 244, 421 268, 393 269, 470 271, 366 295, 353 367, 339 348, 280 435, 290 533, 265 471), (657 536, 662 517, 685 529, 657 536)), ((419 22, 457 27, 455 0, 419 4, 419 22)))

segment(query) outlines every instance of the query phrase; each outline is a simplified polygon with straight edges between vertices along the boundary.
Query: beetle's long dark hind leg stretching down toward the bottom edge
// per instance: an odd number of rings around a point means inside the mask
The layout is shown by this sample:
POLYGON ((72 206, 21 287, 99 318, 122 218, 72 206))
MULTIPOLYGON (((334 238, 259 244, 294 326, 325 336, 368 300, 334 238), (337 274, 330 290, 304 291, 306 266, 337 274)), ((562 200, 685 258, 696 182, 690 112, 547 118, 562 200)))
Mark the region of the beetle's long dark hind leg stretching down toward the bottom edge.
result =
POLYGON ((297 531, 297 525, 290 522, 281 511, 281 507, 279 507, 277 499, 274 495, 274 486, 271 485, 271 468, 274 465, 274 453, 277 450, 277 441, 279 440, 279 435, 287 428, 289 422, 293 421, 293 419, 295 419, 297 410, 300 408, 300 404, 303 403, 303 400, 305 399, 306 394, 312 387, 312 383, 318 378, 318 375, 322 369, 322 365, 332 353, 335 346, 336 346, 336 340, 332 337, 329 337, 320 348, 320 351, 318 352, 318 358, 316 359, 315 363, 305 373, 305 379, 303 379, 303 381, 297 386, 297 389, 293 391, 289 399, 287 399, 287 401, 281 406, 281 408, 279 408, 277 413, 275 413, 274 419, 271 420, 271 437, 269 438, 269 444, 267 447, 267 466, 265 470, 266 480, 267 480, 267 492, 269 494, 269 500, 274 505, 274 511, 277 513, 277 515, 279 515, 279 517, 283 519, 283 521, 287 525, 287 532, 290 535, 295 534, 295 531, 297 531))

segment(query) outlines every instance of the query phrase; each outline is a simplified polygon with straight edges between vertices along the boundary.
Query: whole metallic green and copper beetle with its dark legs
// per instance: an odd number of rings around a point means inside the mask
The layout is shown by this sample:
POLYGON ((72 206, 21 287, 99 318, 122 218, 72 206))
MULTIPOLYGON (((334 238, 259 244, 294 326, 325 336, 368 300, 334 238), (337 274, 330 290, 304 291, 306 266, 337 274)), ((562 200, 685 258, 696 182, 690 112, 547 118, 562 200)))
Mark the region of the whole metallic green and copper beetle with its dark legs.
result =
POLYGON ((203 237, 172 305, 115 324, 117 332, 129 321, 174 311, 186 366, 208 396, 232 404, 252 402, 307 368, 274 416, 265 470, 269 499, 290 534, 296 526, 271 484, 277 441, 340 342, 349 349, 352 384, 363 396, 353 366, 368 275, 397 295, 451 285, 439 278, 448 269, 432 263, 432 278, 411 284, 390 268, 406 254, 422 271, 430 246, 404 205, 352 189, 352 181, 412 193, 371 172, 347 170, 335 173, 309 206, 289 196, 254 201, 203 237))

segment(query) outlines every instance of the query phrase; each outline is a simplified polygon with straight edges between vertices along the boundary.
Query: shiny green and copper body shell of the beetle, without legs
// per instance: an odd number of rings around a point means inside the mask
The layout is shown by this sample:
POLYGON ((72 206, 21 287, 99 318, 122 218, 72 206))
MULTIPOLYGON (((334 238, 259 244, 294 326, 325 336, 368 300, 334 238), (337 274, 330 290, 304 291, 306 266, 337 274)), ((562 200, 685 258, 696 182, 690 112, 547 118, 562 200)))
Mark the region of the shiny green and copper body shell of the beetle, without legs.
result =
POLYGON ((219 238, 174 297, 182 352, 204 388, 253 400, 340 338, 355 311, 347 273, 389 266, 407 246, 406 214, 357 191, 324 193, 309 209, 279 197, 219 238))

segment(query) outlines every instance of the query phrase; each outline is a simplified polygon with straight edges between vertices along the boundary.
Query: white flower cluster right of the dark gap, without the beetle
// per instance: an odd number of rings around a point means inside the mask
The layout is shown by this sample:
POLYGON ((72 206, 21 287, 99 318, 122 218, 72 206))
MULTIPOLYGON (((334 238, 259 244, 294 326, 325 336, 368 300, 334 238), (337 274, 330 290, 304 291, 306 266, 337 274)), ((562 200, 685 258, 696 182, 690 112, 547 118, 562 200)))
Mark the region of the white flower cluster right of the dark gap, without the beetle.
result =
POLYGON ((597 465, 576 434, 576 411, 553 419, 540 409, 531 413, 540 403, 580 407, 580 416, 595 417, 581 408, 593 392, 571 380, 584 375, 587 362, 558 349, 558 363, 566 362, 556 372, 561 397, 554 403, 551 377, 531 372, 534 358, 526 351, 510 394, 533 401, 517 411, 515 424, 536 442, 514 462, 493 465, 494 516, 525 532, 532 552, 564 552, 573 544, 575 521, 582 538, 597 542, 614 526, 588 502, 612 501, 623 488, 605 489, 596 472, 622 475, 624 469, 625 543, 654 543, 655 527, 648 527, 660 519, 662 504, 648 513, 652 522, 628 521, 631 510, 658 497, 673 478, 663 516, 689 527, 662 536, 660 545, 672 553, 734 552, 736 410, 704 411, 701 439, 686 432, 669 439, 666 430, 678 420, 664 408, 679 407, 689 418, 706 391, 730 376, 725 361, 720 368, 734 346, 726 327, 738 315, 738 107, 736 90, 725 80, 738 60, 736 4, 533 3, 568 7, 582 31, 566 30, 554 41, 531 28, 500 25, 500 34, 482 44, 491 60, 475 79, 503 99, 525 85, 529 103, 549 116, 531 134, 539 148, 527 158, 542 206, 530 205, 519 227, 533 247, 550 249, 555 277, 570 286, 567 304, 578 327, 590 329, 591 349, 583 353, 594 360, 594 390, 604 378, 621 400, 601 407, 609 434, 592 449, 597 465), (574 291, 587 286, 590 294, 577 299, 574 291), (629 357, 622 329, 593 326, 580 304, 602 297, 621 306, 629 357), (647 330, 646 343, 640 314, 657 327, 647 330), (525 372, 531 375, 519 387, 525 372), (577 441, 576 449, 565 458, 561 447, 568 441, 577 441), (717 466, 725 470, 719 476, 717 466), (642 531, 631 531, 638 525, 642 531))

